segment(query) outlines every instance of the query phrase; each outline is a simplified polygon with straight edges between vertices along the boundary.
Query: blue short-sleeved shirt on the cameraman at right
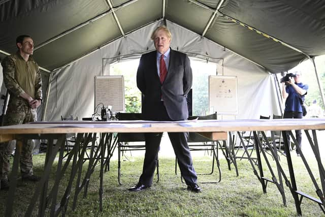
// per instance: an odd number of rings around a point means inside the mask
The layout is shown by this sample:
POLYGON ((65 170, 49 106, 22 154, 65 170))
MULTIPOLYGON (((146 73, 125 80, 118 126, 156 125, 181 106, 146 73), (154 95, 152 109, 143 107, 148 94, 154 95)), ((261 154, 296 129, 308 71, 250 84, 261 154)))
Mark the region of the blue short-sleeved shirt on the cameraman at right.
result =
MULTIPOLYGON (((304 90, 308 90, 308 84, 303 83, 296 83, 300 88, 304 90)), ((296 112, 303 112, 303 109, 301 107, 301 101, 305 101, 305 95, 301 96, 298 94, 298 92, 295 90, 295 88, 292 85, 286 85, 285 91, 288 93, 288 97, 285 100, 285 109, 284 111, 296 111, 296 112), (301 100, 300 100, 301 99, 301 100)))

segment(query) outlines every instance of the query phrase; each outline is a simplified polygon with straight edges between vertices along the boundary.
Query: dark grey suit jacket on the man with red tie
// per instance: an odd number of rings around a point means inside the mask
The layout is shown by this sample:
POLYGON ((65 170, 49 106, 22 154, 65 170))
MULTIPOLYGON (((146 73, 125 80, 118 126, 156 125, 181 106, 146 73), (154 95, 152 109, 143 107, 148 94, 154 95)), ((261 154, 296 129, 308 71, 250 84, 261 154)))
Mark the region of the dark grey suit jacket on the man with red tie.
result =
POLYGON ((170 51, 167 77, 160 83, 156 52, 143 54, 137 72, 137 86, 143 94, 142 117, 156 120, 157 106, 161 97, 169 117, 172 120, 184 120, 188 117, 186 96, 192 86, 192 69, 189 58, 185 53, 170 51))

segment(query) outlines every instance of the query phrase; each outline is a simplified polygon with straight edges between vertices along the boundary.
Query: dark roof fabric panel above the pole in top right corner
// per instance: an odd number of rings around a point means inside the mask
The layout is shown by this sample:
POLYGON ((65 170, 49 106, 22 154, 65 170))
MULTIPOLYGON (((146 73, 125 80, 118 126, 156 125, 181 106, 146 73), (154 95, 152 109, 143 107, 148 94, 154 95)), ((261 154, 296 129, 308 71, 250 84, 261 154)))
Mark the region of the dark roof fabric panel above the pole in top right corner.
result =
POLYGON ((310 56, 324 54, 324 1, 229 0, 220 11, 310 56))

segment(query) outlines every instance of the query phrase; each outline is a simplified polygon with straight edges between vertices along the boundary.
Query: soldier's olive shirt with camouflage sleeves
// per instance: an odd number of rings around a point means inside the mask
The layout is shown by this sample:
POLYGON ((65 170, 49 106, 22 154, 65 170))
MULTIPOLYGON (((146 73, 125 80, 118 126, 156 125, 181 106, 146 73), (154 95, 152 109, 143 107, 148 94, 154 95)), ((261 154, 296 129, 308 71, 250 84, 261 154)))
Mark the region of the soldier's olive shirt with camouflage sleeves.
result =
POLYGON ((1 65, 4 82, 11 98, 20 98, 20 93, 26 92, 33 99, 42 100, 41 74, 32 56, 29 56, 26 62, 17 52, 4 58, 1 65))

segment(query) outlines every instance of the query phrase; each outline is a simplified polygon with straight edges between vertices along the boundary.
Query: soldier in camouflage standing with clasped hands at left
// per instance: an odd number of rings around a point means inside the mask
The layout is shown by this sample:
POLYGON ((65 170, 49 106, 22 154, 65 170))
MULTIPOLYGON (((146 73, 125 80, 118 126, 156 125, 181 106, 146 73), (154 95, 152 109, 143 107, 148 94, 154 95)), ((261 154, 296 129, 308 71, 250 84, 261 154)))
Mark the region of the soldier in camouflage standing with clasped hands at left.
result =
MULTIPOLYGON (((4 125, 19 125, 37 121, 36 109, 42 103, 42 80, 39 66, 32 57, 34 42, 30 36, 16 39, 18 51, 2 61, 5 85, 10 93, 4 125)), ((23 140, 20 157, 20 173, 23 181, 38 181, 32 172, 32 140, 23 140)), ((0 144, 1 189, 9 189, 9 157, 13 148, 10 143, 0 144)))

